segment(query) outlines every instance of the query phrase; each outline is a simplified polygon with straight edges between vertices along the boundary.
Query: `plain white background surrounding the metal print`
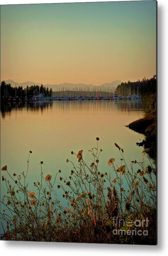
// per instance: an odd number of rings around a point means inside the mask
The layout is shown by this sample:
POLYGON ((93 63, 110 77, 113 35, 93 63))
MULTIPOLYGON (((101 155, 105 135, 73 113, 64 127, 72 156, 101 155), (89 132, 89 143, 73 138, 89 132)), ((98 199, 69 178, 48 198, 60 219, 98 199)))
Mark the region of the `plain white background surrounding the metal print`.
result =
MULTIPOLYGON (((111 0, 113 1, 113 0, 111 0)), ((143 1, 143 0, 142 0, 143 1)), ((0 0, 0 4, 26 4, 26 3, 58 3, 83 1, 43 1, 43 0, 0 0)), ((96 2, 96 1, 85 1, 96 2)), ((97 1, 103 2, 103 1, 97 1)), ((158 0, 158 93, 157 93, 157 138, 158 138, 158 245, 115 245, 115 244, 78 244, 78 243, 46 243, 46 242, 15 242, 0 241, 1 255, 167 255, 168 251, 168 162, 167 162, 167 101, 168 101, 168 1, 158 0)))

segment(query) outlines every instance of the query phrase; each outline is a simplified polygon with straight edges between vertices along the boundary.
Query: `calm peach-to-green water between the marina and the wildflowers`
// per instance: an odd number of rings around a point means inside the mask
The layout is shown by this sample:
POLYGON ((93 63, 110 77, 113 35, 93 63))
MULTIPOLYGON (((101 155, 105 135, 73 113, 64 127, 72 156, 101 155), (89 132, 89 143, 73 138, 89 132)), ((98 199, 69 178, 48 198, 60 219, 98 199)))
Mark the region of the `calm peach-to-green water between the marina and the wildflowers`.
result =
MULTIPOLYGON (((99 171, 111 172, 107 165, 110 158, 120 164, 116 142, 124 149, 125 160, 142 161, 142 147, 136 142, 143 135, 125 127, 144 115, 140 100, 119 101, 53 101, 32 102, 20 105, 1 106, 1 167, 5 164, 11 174, 27 170, 29 150, 28 190, 34 190, 33 182, 40 179, 40 161, 44 161, 43 174, 54 174, 61 169, 62 177, 69 177, 73 161, 78 165, 75 155, 83 149, 83 157, 88 165, 92 155, 88 151, 95 147, 99 137, 101 152, 99 171)), ((2 173, 1 176, 5 175, 2 173)), ((1 198, 6 193, 1 180, 1 198)), ((2 210, 2 206, 1 206, 2 210)))

